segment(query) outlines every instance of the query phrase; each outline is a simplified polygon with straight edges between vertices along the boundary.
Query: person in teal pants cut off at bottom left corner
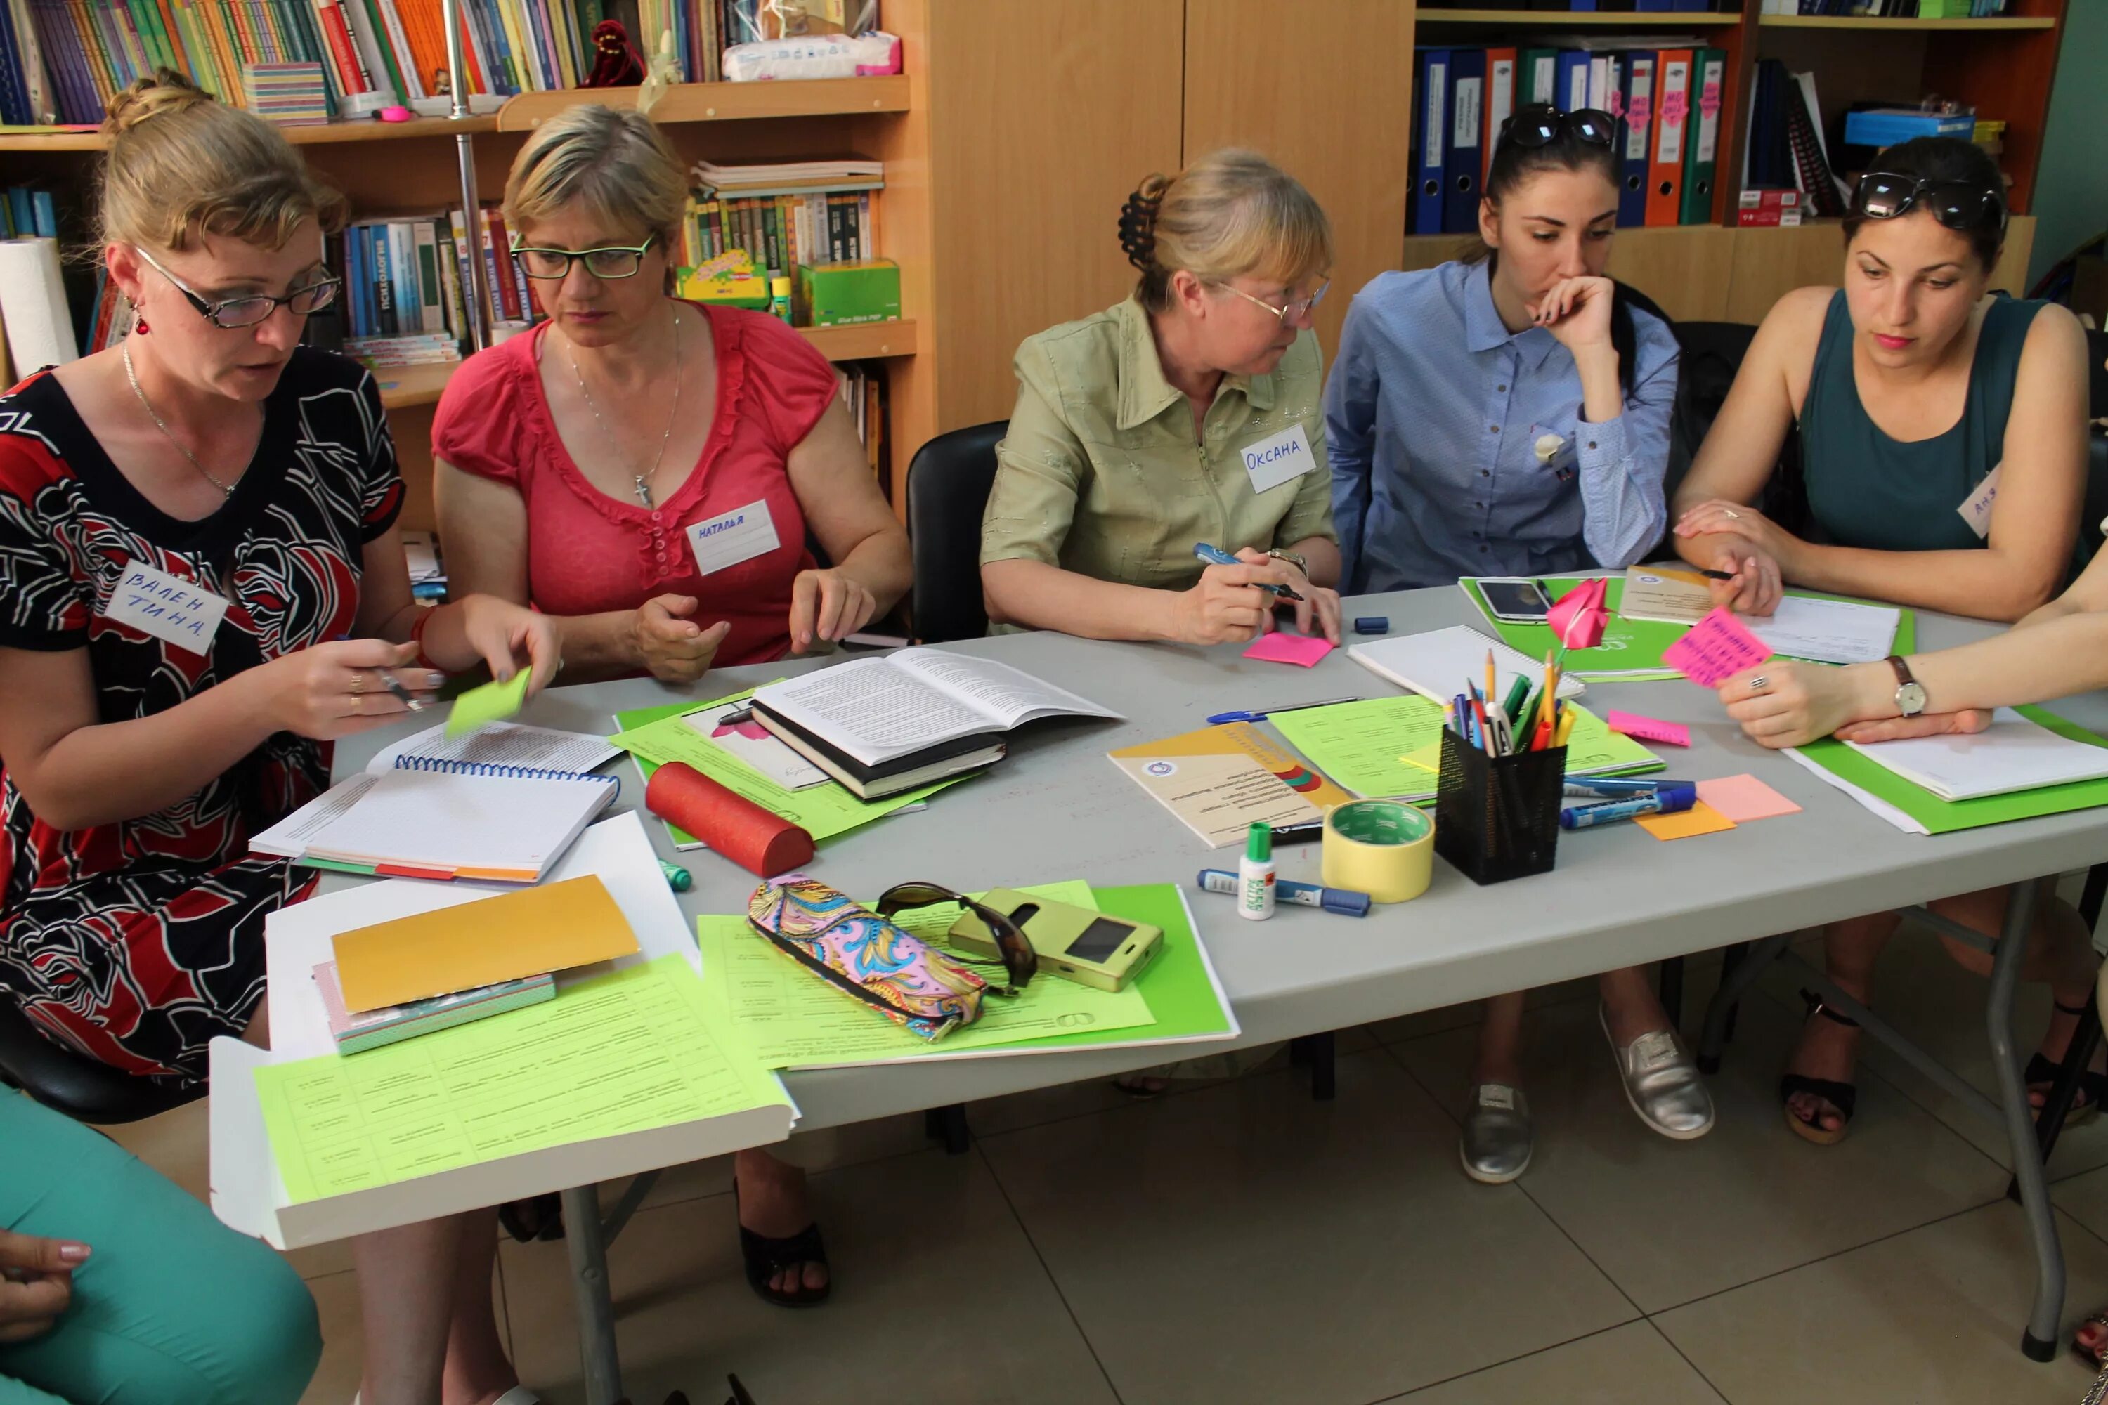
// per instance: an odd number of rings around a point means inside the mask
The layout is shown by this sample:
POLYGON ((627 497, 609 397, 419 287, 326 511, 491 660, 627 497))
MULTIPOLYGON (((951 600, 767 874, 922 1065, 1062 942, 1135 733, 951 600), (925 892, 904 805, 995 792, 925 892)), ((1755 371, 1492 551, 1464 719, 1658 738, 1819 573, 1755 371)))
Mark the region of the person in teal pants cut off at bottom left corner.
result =
POLYGON ((320 1354, 285 1260, 0 1089, 0 1405, 293 1405, 320 1354))

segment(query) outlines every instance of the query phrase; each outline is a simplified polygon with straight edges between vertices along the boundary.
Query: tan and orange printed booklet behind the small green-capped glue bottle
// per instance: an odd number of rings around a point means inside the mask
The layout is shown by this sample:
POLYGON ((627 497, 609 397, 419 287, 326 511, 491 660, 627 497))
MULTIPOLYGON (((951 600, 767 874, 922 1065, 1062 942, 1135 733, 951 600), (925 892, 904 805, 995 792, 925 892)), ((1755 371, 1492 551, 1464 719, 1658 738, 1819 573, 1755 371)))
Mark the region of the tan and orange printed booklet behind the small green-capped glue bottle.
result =
POLYGON ((1248 723, 1202 727, 1109 756, 1210 849, 1240 843, 1252 824, 1309 824, 1328 805, 1353 798, 1248 723))

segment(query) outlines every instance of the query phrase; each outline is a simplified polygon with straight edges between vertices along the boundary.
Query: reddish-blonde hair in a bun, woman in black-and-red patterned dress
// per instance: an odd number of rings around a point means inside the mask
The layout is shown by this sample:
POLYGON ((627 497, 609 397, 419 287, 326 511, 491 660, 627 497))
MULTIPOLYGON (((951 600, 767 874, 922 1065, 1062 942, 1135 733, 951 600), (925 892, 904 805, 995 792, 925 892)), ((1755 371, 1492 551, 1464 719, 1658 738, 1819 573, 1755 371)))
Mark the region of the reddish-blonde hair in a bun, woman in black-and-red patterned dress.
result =
POLYGON ((285 249, 312 219, 344 225, 344 196, 308 171, 264 118, 228 107, 171 70, 110 99, 97 173, 97 244, 190 249, 207 234, 285 249))

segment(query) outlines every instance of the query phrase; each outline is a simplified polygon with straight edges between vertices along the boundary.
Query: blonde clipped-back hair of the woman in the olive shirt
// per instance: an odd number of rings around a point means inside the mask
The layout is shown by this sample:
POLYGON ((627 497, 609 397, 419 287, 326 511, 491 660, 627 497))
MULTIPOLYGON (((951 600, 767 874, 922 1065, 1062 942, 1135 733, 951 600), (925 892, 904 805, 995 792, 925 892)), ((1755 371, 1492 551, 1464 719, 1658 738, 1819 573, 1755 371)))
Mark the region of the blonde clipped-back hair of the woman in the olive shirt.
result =
POLYGON ((1164 312, 1178 270, 1202 282, 1265 274, 1290 286, 1330 270, 1332 221, 1296 177, 1258 152, 1225 150, 1145 179, 1119 211, 1119 246, 1143 270, 1143 308, 1164 312))

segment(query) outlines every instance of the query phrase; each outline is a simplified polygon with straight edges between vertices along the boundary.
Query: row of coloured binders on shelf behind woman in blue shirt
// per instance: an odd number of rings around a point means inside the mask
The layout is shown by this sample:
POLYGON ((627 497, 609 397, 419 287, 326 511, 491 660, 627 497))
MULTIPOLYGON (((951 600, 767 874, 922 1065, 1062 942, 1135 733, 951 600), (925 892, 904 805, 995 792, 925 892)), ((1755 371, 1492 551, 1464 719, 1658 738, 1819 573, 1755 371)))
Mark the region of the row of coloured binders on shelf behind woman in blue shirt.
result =
POLYGON ((1678 36, 1575 36, 1520 48, 1421 46, 1414 61, 1410 234, 1478 230, 1501 124, 1526 103, 1617 118, 1621 227, 1712 221, 1724 51, 1678 36))

